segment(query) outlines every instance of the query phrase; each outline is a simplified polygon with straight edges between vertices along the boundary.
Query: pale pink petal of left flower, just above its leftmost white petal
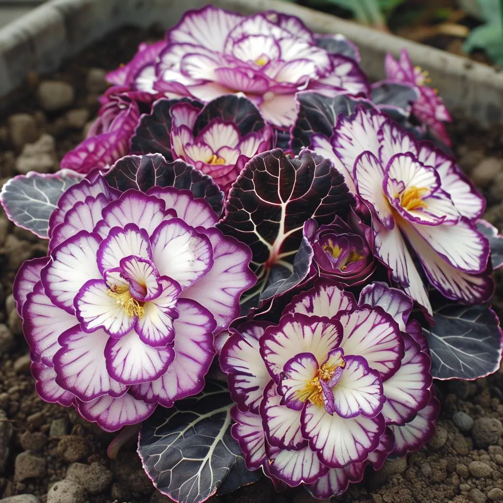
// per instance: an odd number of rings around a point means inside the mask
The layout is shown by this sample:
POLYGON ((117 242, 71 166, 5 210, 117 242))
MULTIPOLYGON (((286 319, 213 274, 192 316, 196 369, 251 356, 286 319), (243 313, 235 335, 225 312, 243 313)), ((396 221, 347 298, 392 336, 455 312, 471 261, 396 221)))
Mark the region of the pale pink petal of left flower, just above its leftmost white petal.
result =
POLYGON ((66 239, 74 236, 80 230, 92 232, 96 224, 103 218, 102 210, 110 202, 105 194, 97 197, 88 196, 79 201, 64 217, 64 221, 57 225, 51 234, 49 249, 54 248, 66 239))

